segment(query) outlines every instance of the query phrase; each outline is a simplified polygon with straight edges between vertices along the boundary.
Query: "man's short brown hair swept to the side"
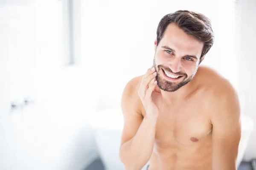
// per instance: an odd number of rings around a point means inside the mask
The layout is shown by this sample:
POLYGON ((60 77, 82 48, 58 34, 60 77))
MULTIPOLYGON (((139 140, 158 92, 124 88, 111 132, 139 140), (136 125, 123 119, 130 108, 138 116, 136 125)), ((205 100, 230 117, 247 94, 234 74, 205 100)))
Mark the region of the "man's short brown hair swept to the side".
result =
POLYGON ((192 35, 201 42, 204 42, 201 58, 207 54, 212 47, 214 34, 212 31, 211 21, 203 14, 188 10, 179 10, 174 13, 166 14, 160 20, 157 27, 157 45, 163 38, 163 34, 170 23, 175 23, 186 34, 192 35))

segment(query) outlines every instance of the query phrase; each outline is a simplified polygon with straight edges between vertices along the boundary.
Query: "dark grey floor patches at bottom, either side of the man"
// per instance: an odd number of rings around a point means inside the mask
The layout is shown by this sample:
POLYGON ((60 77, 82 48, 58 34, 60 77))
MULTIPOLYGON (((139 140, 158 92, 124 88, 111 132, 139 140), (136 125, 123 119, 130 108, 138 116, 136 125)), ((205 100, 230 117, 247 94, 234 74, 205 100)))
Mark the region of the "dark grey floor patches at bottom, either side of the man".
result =
MULTIPOLYGON (((105 170, 105 168, 101 159, 96 159, 89 165, 89 167, 85 168, 85 170, 105 170)), ((256 170, 256 160, 251 162, 241 162, 238 170, 256 170)))

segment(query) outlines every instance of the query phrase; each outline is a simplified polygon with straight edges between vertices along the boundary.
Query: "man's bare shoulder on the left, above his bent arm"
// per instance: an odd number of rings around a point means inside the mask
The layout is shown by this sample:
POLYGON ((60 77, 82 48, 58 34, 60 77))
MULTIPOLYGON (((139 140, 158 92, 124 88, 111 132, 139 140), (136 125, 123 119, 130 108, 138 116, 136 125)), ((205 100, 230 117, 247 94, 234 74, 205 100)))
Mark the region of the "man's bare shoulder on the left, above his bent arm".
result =
POLYGON ((122 111, 126 113, 131 108, 134 108, 137 113, 141 113, 141 102, 138 95, 140 83, 143 76, 134 77, 127 82, 122 93, 122 111))

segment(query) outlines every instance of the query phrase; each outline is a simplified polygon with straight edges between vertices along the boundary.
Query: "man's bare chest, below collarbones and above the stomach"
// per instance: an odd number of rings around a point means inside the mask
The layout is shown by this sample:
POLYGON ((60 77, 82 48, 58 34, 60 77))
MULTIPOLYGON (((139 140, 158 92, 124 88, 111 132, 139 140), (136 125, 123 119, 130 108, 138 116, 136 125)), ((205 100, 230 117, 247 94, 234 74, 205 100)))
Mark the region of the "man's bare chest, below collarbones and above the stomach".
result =
POLYGON ((155 142, 162 148, 197 146, 209 139, 211 130, 209 115, 199 104, 165 106, 157 119, 155 142))

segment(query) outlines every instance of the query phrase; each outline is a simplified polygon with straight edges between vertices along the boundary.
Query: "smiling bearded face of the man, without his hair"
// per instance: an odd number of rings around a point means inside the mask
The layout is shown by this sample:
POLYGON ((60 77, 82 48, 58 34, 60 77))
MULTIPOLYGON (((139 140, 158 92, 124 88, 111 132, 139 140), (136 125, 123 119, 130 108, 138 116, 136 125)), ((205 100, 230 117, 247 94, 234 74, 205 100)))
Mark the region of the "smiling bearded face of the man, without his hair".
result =
POLYGON ((190 82, 198 70, 203 47, 203 42, 175 24, 169 24, 156 47, 153 61, 159 88, 173 92, 190 82))

